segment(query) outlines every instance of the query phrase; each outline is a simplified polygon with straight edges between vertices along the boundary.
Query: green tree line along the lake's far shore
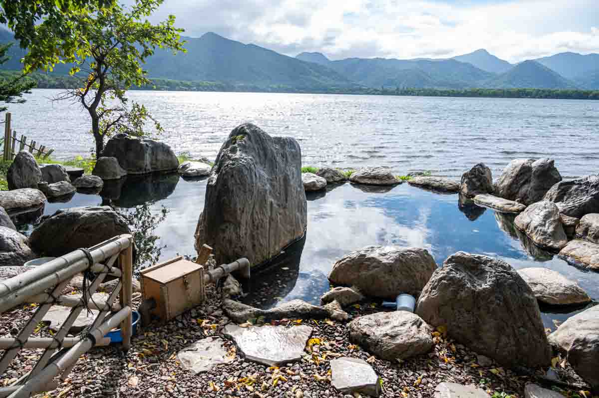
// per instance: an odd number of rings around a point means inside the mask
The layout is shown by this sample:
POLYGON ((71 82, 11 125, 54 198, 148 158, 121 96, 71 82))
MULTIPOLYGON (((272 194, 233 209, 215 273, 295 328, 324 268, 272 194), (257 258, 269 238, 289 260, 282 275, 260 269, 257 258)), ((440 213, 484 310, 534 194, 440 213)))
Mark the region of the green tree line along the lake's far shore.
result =
MULTIPOLYGON (((0 71, 0 80, 9 80, 20 75, 17 71, 0 71)), ((53 75, 34 72, 25 80, 35 81, 39 89, 76 89, 81 78, 73 75, 53 75)), ((285 85, 259 86, 255 84, 223 83, 218 81, 186 81, 152 79, 136 90, 161 91, 204 91, 204 92, 268 92, 268 93, 316 93, 355 95, 397 95, 430 97, 474 97, 474 98, 546 98, 546 99, 595 99, 599 90, 553 90, 553 89, 395 89, 380 87, 305 87, 285 85)))

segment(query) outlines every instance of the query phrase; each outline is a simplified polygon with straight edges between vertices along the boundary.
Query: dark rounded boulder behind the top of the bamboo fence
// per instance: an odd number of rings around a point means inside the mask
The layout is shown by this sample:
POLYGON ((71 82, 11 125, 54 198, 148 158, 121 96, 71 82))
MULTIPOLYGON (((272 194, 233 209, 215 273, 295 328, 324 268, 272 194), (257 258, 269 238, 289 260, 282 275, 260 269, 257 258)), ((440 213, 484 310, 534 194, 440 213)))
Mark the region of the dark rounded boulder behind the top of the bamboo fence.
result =
POLYGON ((29 236, 29 244, 44 256, 59 257, 88 248, 123 233, 129 227, 110 206, 74 207, 58 210, 29 236))

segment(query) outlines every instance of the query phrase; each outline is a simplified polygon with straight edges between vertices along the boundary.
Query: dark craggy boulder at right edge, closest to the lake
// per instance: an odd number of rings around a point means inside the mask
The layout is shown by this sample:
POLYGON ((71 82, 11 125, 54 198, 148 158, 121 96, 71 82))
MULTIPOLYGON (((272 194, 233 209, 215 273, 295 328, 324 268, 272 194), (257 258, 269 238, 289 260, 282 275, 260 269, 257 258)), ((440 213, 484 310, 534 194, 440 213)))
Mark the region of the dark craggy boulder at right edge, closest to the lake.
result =
POLYGON ((599 213, 599 175, 560 181, 551 187, 543 200, 555 202, 559 212, 570 217, 599 213))

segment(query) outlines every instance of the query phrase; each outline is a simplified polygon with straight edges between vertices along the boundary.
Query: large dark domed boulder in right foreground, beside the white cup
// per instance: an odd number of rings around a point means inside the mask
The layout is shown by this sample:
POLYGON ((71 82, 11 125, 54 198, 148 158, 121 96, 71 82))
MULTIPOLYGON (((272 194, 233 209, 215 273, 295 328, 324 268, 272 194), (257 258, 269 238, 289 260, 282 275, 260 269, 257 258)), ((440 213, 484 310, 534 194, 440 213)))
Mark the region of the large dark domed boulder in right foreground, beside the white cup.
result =
POLYGON ((416 306, 431 326, 504 366, 546 366, 551 350, 537 299, 509 264, 453 254, 422 290, 416 306))

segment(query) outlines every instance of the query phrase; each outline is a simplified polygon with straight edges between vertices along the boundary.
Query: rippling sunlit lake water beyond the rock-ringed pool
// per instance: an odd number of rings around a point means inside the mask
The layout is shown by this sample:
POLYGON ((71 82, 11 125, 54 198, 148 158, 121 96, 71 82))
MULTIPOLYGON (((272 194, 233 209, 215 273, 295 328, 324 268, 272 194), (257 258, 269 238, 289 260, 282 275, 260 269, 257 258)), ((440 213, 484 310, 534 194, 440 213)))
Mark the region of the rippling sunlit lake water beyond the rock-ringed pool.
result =
MULTIPOLYGON (((65 159, 93 147, 89 116, 34 90, 11 105, 13 128, 65 159)), ((304 165, 380 165, 395 174, 456 177, 477 162, 495 175, 517 157, 552 157, 564 177, 598 172, 599 101, 270 93, 129 92, 161 122, 177 152, 214 159, 231 130, 252 121, 298 139, 304 165)))

